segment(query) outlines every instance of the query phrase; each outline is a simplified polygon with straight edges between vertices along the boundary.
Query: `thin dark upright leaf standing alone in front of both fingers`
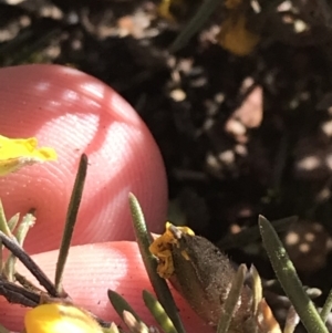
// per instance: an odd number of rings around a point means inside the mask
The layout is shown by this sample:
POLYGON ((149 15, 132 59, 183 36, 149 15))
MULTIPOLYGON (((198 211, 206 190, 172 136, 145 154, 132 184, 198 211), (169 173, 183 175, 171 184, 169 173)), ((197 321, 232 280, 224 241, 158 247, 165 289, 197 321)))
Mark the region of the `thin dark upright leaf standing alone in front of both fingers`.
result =
POLYGON ((62 240, 61 240, 61 246, 60 246, 60 251, 59 251, 59 257, 58 257, 58 262, 56 262, 56 270, 55 270, 55 289, 59 294, 63 293, 62 290, 62 274, 64 271, 64 266, 66 262, 69 249, 71 246, 71 240, 74 231, 74 226, 76 222, 77 218, 77 212, 82 199, 82 194, 83 194, 83 187, 84 187, 84 181, 86 177, 86 169, 87 169, 87 156, 83 154, 81 156, 80 165, 79 165, 79 170, 73 188, 73 192, 71 196, 70 205, 68 208, 68 214, 66 214, 66 219, 65 219, 65 225, 64 225, 64 230, 62 235, 62 240))

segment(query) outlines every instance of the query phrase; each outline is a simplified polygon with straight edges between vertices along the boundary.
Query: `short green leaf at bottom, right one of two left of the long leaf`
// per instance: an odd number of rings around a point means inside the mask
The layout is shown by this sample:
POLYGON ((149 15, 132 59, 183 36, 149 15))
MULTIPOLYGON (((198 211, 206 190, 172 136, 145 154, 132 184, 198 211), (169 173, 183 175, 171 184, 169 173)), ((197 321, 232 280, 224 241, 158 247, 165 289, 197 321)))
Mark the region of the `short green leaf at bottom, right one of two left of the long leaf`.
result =
POLYGON ((167 313, 165 312, 163 305, 158 300, 151 294, 148 291, 143 291, 143 300, 149 312, 153 314, 154 319, 162 326, 165 333, 177 333, 174 324, 167 313))

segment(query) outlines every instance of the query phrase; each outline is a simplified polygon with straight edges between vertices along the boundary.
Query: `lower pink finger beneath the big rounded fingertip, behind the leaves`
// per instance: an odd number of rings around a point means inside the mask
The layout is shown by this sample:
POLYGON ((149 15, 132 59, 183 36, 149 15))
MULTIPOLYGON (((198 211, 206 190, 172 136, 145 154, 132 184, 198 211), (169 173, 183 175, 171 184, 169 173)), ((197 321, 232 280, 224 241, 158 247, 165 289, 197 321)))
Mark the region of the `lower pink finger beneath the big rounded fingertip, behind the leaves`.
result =
MULTIPOLYGON (((56 256, 58 251, 51 251, 35 254, 33 259, 51 278, 54 275, 56 256)), ((31 277, 27 270, 20 272, 31 277)), ((135 242, 73 247, 68 259, 63 285, 76 305, 92 311, 103 320, 121 322, 107 299, 107 290, 111 289, 123 295, 147 324, 155 324, 142 299, 143 290, 153 290, 135 242)), ((177 293, 175 300, 187 332, 212 332, 177 293)), ((11 330, 22 330, 25 311, 24 308, 0 300, 1 323, 11 330)))

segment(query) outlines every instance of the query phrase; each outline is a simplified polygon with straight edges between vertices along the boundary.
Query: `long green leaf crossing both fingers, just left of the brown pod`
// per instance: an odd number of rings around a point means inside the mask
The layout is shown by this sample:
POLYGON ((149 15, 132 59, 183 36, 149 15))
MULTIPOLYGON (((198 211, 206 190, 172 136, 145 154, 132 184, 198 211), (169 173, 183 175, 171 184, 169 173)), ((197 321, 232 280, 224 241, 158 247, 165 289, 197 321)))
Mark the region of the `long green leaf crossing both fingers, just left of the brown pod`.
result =
POLYGON ((141 251, 145 269, 147 271, 149 281, 155 290, 155 293, 163 304, 165 311, 174 323, 178 333, 184 333, 185 329, 177 312, 176 304, 168 289, 168 285, 164 279, 157 274, 157 261, 149 252, 148 247, 152 242, 152 237, 146 228, 144 215, 138 200, 133 194, 129 194, 129 205, 132 211, 132 218, 134 223, 134 230, 136 233, 136 241, 141 251))

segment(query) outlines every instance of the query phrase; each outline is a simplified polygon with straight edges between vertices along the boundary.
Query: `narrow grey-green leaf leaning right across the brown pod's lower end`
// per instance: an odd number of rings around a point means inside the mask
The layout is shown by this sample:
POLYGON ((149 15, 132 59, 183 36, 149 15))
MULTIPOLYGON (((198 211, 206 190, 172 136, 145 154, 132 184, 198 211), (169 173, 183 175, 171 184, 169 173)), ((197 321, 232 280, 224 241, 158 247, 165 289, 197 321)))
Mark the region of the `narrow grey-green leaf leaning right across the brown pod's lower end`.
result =
POLYGON ((246 279, 247 268, 245 264, 241 264, 238 268, 235 280, 231 284, 228 298, 224 305, 224 312, 219 320, 217 333, 227 333, 231 319, 234 316, 235 309, 241 295, 243 283, 246 279))

